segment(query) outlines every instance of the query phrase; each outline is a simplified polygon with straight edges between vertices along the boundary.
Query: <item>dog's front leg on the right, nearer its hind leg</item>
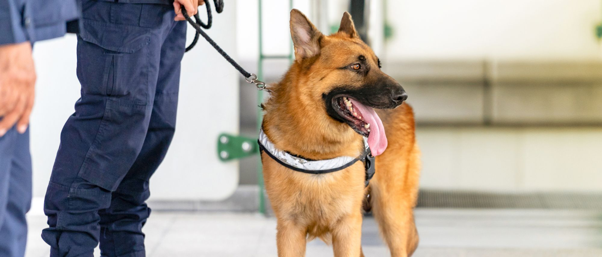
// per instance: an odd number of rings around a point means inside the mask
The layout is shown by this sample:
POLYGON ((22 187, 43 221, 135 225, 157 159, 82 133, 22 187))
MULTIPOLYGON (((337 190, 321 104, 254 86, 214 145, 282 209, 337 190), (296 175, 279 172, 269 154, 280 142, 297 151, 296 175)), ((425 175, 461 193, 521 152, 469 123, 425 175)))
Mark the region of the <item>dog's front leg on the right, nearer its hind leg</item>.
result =
POLYGON ((332 247, 335 257, 363 256, 362 215, 359 211, 357 214, 344 217, 332 229, 332 247))

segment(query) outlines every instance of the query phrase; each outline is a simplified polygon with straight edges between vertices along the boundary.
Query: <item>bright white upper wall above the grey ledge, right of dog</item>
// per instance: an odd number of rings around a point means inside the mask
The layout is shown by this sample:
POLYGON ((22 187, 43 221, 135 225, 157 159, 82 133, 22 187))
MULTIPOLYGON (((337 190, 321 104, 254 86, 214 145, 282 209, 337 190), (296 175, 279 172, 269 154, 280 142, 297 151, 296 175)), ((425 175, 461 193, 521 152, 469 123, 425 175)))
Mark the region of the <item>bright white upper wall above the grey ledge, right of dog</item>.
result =
POLYGON ((389 0, 389 59, 600 59, 598 0, 389 0))

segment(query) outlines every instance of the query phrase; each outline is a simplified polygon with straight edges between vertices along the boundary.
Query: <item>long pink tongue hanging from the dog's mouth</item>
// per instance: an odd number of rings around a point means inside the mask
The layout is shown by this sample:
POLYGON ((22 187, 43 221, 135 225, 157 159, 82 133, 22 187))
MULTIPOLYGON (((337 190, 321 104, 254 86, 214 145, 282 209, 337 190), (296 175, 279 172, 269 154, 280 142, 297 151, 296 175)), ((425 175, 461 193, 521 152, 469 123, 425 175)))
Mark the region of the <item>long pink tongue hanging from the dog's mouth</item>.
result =
POLYGON ((373 156, 378 156, 382 154, 387 145, 386 135, 385 135, 385 127, 382 125, 382 121, 380 121, 380 117, 374 112, 374 109, 371 107, 365 106, 364 104, 359 103, 352 98, 349 98, 351 103, 353 104, 353 110, 358 112, 358 115, 361 114, 364 117, 364 121, 370 124, 370 134, 368 134, 368 145, 370 146, 370 150, 372 151, 373 156))

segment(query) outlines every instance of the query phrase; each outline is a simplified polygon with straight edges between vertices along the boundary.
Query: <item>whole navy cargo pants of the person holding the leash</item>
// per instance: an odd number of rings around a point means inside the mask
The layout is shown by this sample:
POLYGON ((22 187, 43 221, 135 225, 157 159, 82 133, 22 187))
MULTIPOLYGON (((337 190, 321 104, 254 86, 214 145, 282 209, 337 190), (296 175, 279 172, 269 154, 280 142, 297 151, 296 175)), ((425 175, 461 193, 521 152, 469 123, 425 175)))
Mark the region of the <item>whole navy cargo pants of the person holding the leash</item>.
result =
POLYGON ((185 22, 172 5, 82 1, 81 98, 46 192, 51 257, 144 256, 149 178, 172 141, 185 22))

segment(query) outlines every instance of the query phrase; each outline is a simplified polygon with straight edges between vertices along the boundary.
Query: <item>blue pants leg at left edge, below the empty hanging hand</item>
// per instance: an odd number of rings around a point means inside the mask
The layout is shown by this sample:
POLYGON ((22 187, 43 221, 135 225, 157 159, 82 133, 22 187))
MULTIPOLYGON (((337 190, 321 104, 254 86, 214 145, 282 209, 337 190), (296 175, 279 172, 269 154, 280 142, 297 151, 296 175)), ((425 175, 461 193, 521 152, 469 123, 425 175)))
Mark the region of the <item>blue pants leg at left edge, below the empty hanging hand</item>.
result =
POLYGON ((12 128, 0 138, 0 256, 25 255, 30 206, 29 130, 20 135, 12 128))

